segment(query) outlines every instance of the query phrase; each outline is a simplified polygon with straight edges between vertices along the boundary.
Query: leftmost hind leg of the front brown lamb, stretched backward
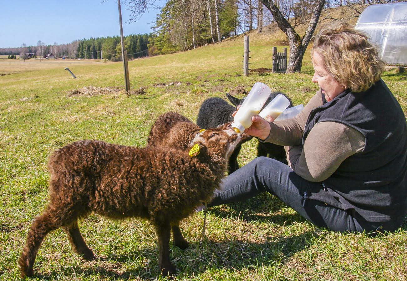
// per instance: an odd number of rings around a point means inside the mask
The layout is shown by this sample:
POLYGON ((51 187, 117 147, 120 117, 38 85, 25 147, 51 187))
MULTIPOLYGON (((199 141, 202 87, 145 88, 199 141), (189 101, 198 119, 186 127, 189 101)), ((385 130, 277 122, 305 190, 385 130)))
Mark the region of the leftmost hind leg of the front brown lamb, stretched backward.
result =
POLYGON ((20 265, 21 277, 33 276, 33 265, 39 246, 44 240, 44 237, 52 230, 60 227, 61 221, 55 218, 54 214, 49 210, 45 210, 42 215, 35 218, 33 225, 27 233, 26 245, 18 259, 20 265))

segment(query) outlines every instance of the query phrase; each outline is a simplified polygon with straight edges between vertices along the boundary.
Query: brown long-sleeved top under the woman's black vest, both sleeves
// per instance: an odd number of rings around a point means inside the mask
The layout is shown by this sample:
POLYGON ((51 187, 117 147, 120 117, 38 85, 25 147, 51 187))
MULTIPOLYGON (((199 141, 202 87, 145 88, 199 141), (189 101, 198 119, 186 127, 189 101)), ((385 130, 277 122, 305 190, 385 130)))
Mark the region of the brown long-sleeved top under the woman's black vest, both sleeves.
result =
POLYGON ((311 182, 327 179, 346 158, 362 151, 365 146, 363 134, 333 121, 315 124, 302 145, 308 115, 319 106, 322 106, 321 90, 296 117, 271 122, 269 137, 264 141, 284 145, 291 169, 311 182))

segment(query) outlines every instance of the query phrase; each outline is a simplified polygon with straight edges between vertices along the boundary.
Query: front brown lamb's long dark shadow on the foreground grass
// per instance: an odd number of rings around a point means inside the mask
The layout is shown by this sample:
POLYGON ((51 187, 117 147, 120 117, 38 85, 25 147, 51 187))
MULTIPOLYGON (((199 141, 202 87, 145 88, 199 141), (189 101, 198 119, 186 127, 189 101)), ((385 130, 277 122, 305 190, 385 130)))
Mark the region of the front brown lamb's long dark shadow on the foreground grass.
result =
MULTIPOLYGON (((317 234, 313 231, 300 235, 270 238, 264 242, 247 242, 232 240, 214 242, 192 242, 186 250, 171 247, 171 259, 177 267, 179 278, 189 278, 206 272, 207 270, 241 270, 247 268, 255 270, 262 265, 283 264, 289 257, 317 242, 317 234)), ((88 266, 84 263, 76 263, 74 266, 66 266, 62 275, 94 277, 112 277, 117 280, 130 278, 151 279, 159 277, 158 249, 147 247, 143 251, 134 251, 128 255, 109 255, 101 258, 99 262, 88 266), (147 263, 134 265, 135 259, 147 263), (134 269, 122 270, 124 264, 132 264, 134 269)), ((35 275, 42 280, 54 280, 61 277, 61 272, 51 272, 48 275, 35 275)))

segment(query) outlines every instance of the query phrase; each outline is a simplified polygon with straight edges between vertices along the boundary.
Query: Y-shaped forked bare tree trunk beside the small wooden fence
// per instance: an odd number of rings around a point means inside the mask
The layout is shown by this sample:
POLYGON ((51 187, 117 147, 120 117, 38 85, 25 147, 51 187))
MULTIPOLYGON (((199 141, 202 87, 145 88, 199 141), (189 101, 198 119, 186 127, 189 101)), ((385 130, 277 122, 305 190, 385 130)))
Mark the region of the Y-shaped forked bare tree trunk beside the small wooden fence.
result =
POLYGON ((287 64, 286 73, 300 72, 302 66, 302 57, 308 47, 309 42, 313 36, 317 26, 319 16, 324 8, 325 0, 315 0, 314 9, 311 12, 308 28, 303 37, 301 37, 291 26, 289 21, 281 13, 280 9, 272 0, 260 0, 267 9, 271 12, 276 20, 277 26, 287 35, 288 43, 290 46, 290 57, 287 64))

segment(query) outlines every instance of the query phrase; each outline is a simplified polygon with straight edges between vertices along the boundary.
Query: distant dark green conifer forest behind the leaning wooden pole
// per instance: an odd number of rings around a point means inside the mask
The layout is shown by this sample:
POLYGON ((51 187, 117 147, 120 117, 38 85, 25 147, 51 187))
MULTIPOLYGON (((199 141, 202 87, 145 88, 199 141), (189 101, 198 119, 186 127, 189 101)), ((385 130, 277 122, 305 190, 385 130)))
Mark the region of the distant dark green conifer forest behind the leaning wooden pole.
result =
MULTIPOLYGON (((129 59, 148 55, 147 43, 150 37, 149 34, 133 34, 124 38, 125 50, 129 59)), ((77 58, 121 61, 121 54, 120 36, 81 39, 78 41, 76 50, 77 58)))

